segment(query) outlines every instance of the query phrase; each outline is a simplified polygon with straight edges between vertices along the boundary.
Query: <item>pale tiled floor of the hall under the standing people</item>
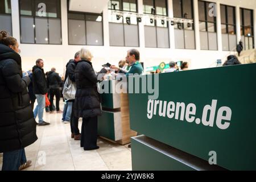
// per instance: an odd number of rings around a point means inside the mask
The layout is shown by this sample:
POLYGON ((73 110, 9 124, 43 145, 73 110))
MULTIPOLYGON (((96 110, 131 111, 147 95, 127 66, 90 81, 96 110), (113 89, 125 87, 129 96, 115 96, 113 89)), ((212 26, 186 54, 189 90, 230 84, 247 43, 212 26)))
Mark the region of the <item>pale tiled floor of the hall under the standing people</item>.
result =
MULTIPOLYGON (((71 138, 70 125, 61 123, 61 117, 62 114, 44 113, 45 121, 51 125, 37 126, 38 140, 26 147, 27 160, 32 160, 32 166, 26 170, 131 170, 131 150, 127 145, 98 138, 98 150, 84 151, 80 141, 71 138)), ((81 128, 81 119, 79 126, 81 128)))

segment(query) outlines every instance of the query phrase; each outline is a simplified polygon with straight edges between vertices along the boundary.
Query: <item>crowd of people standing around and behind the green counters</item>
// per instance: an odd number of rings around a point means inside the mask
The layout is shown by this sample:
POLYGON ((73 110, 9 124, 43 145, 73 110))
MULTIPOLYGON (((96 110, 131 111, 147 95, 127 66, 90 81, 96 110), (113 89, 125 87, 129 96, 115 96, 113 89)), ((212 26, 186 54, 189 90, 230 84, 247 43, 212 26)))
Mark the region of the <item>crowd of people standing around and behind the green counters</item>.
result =
MULTIPOLYGON (((0 31, 0 153, 3 153, 2 170, 22 170, 30 166, 24 148, 34 143, 36 125, 46 126, 43 114, 49 97, 49 113, 63 113, 62 122, 70 123, 71 138, 80 140, 84 150, 96 150, 97 116, 101 115, 101 100, 97 84, 114 70, 114 76, 122 73, 142 74, 143 67, 137 49, 127 51, 126 59, 119 61, 118 67, 111 65, 100 72, 93 69, 92 53, 81 48, 66 65, 62 79, 56 69, 44 72, 44 60, 37 59, 31 71, 22 72, 19 44, 7 32, 0 31), (103 75, 102 78, 99 78, 103 75), (67 86, 69 85, 69 86, 67 86), (63 88, 63 92, 61 92, 63 88), (72 90, 73 89, 73 90, 72 90), (64 97, 64 110, 60 110, 60 97, 64 97), (55 105, 53 98, 56 97, 55 105), (34 108, 34 103, 37 105, 34 108), (38 122, 36 122, 38 118, 38 122), (81 132, 79 118, 82 118, 81 132)), ((240 64, 236 56, 229 56, 224 65, 240 64)), ((188 63, 180 69, 174 61, 166 72, 188 70, 188 63)), ((158 71, 160 73, 160 71, 158 71)))

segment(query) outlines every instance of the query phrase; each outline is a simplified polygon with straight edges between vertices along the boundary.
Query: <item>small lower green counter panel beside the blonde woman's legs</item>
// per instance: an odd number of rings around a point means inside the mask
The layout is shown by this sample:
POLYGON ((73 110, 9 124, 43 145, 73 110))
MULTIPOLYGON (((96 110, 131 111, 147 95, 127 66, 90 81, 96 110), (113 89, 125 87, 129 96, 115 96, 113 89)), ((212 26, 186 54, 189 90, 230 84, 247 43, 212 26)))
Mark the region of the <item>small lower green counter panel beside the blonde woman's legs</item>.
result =
POLYGON ((102 111, 98 116, 98 135, 115 141, 114 113, 102 111))

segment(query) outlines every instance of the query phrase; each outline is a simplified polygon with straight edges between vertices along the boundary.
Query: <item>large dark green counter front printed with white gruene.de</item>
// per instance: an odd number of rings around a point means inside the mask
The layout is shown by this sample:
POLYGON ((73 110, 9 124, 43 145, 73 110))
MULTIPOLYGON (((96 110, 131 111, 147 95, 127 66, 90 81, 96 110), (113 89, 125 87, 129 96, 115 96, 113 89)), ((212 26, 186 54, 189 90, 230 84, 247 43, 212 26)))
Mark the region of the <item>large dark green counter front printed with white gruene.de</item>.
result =
POLYGON ((184 121, 160 117, 158 107, 156 115, 148 119, 148 94, 129 94, 131 129, 204 160, 210 158, 210 151, 216 151, 218 166, 226 169, 255 170, 255 78, 256 64, 159 74, 157 100, 184 102, 185 106, 193 103, 195 118, 201 119, 204 106, 217 100, 213 127, 187 122, 185 117, 184 121), (232 110, 225 130, 216 125, 222 106, 232 110))

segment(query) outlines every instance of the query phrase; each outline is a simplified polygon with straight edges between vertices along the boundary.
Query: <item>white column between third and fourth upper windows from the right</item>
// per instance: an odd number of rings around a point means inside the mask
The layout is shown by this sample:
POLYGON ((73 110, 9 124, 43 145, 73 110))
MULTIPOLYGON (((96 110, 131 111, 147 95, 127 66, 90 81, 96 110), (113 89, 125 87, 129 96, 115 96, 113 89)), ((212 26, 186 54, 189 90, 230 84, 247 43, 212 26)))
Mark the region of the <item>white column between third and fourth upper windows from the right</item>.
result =
POLYGON ((198 0, 194 0, 193 2, 194 2, 193 6, 194 6, 196 50, 200 50, 200 28, 199 28, 198 0))

